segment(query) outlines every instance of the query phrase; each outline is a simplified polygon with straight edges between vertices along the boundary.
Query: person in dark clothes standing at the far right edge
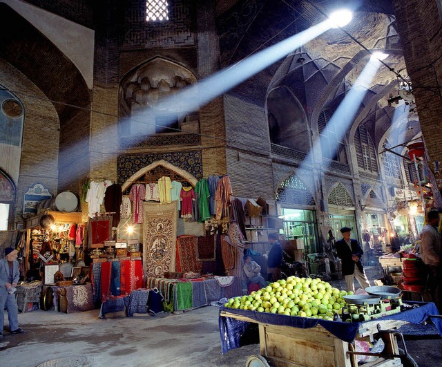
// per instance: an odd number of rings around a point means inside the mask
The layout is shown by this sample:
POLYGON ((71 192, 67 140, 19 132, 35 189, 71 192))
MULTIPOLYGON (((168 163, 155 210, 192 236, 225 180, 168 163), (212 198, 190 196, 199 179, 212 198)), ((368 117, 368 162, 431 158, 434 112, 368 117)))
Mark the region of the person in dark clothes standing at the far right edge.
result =
POLYGON ((438 226, 439 211, 428 211, 427 224, 421 232, 419 252, 428 272, 428 288, 439 312, 442 313, 441 236, 437 231, 438 226))

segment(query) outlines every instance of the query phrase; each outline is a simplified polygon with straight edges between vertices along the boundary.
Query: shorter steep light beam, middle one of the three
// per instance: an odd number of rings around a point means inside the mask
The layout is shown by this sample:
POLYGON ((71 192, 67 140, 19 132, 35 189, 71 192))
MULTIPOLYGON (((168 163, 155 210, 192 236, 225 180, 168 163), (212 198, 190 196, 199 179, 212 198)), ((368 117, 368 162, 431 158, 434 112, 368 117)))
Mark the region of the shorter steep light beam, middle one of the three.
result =
MULTIPOLYGON (((356 79, 356 82, 352 88, 345 95, 342 102, 340 102, 338 108, 332 115, 332 118, 327 122, 327 127, 331 131, 336 131, 336 139, 333 141, 329 140, 330 147, 332 151, 338 148, 339 142, 343 140, 345 133, 354 121, 354 117, 358 112, 359 107, 367 93, 369 87, 372 84, 374 76, 376 75, 378 69, 381 67, 381 62, 376 58, 370 58, 365 67, 363 68, 361 74, 356 79), (334 144, 334 145, 332 145, 334 144)), ((309 171, 309 163, 314 161, 314 152, 319 151, 321 144, 321 137, 319 137, 315 142, 312 149, 310 149, 309 154, 305 160, 300 164, 299 169, 302 171, 309 171)), ((327 165, 323 162, 323 168, 327 169, 327 165)), ((313 180, 313 176, 310 175, 310 180, 313 180)))

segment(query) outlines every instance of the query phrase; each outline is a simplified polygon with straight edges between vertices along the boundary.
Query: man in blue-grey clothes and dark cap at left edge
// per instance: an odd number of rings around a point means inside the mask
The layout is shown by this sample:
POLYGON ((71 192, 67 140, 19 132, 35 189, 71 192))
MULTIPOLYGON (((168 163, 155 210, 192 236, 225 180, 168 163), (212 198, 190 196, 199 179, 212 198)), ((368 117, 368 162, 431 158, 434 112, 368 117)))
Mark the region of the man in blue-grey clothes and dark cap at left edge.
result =
POLYGON ((19 309, 15 299, 15 287, 19 282, 20 272, 17 262, 17 250, 7 248, 5 258, 0 260, 0 338, 3 337, 4 312, 8 310, 8 319, 11 334, 24 332, 19 328, 19 309))

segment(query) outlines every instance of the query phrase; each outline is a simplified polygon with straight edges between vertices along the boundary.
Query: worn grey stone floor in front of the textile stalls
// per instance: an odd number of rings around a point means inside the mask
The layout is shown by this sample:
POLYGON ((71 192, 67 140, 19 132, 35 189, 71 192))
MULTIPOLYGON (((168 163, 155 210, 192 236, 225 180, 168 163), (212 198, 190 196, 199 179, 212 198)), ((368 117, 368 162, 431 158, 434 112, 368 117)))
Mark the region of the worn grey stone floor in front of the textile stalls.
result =
MULTIPOLYGON (((370 280, 378 272, 377 267, 367 268, 370 280)), ((259 354, 259 346, 252 345, 222 355, 214 306, 155 317, 125 317, 116 312, 99 319, 98 313, 37 310, 19 314, 26 333, 9 335, 5 330, 0 339, 0 366, 234 367, 245 366, 249 355, 259 354)), ((410 355, 421 367, 440 366, 442 339, 425 338, 407 340, 410 355)))

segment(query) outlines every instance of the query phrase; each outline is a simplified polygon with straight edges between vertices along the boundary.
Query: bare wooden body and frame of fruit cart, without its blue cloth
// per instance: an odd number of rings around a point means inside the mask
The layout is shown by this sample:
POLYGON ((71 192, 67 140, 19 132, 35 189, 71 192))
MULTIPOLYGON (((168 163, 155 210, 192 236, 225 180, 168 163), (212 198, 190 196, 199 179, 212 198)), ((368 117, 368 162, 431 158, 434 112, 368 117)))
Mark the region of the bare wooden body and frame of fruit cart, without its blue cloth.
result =
MULTIPOLYGON (((353 344, 339 339, 319 324, 307 329, 273 325, 257 322, 256 319, 226 310, 220 311, 220 317, 258 323, 260 354, 271 363, 271 366, 358 366, 359 353, 354 352, 353 344)), ((356 339, 374 341, 375 338, 382 337, 385 342, 383 355, 376 356, 376 361, 363 366, 403 366, 396 337, 391 330, 396 330, 405 323, 407 321, 374 319, 361 324, 356 339)), ((252 365, 259 364, 249 364, 252 365)))

